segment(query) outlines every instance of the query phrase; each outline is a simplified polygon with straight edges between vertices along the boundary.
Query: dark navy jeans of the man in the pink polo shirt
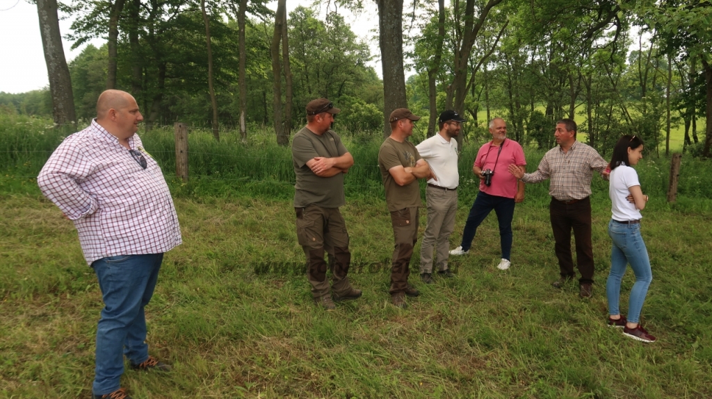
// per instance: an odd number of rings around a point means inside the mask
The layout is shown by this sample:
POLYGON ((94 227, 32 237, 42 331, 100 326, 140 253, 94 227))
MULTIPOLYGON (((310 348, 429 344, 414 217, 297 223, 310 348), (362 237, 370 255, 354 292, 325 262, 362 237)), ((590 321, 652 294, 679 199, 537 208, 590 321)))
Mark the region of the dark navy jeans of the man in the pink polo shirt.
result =
POLYGON ((512 251, 512 219, 514 217, 514 198, 497 197, 485 192, 479 192, 475 203, 470 208, 470 214, 462 232, 462 250, 469 251, 477 228, 487 215, 494 210, 499 222, 499 237, 502 247, 502 258, 510 260, 512 251))

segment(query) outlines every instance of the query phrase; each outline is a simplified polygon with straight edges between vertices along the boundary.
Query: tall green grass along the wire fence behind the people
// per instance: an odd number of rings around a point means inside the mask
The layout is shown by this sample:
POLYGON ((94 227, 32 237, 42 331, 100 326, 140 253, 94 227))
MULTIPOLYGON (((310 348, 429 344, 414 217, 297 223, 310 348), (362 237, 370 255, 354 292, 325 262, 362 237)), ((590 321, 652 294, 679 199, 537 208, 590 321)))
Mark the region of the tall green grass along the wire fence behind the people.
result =
MULTIPOLYGON (((338 130, 338 129, 337 129, 338 130)), ((28 192, 33 177, 39 173, 52 151, 72 133, 67 126, 54 129, 44 119, 0 114, 0 192, 28 192), (24 184, 23 184, 24 182, 24 184)), ((378 168, 380 133, 339 131, 345 146, 354 156, 355 165, 345 178, 348 197, 383 197, 378 168)), ((217 142, 208 130, 189 129, 189 182, 174 177, 175 147, 172 127, 139 132, 145 148, 161 165, 164 175, 178 197, 234 197, 240 195, 288 199, 293 196, 294 172, 290 147, 278 146, 270 128, 252 126, 248 143, 239 134, 224 131, 217 142)), ((461 199, 476 195, 478 181, 471 173, 478 143, 465 143, 459 158, 461 199)), ((545 151, 525 148, 528 170, 533 171, 545 151)), ((637 167, 642 187, 651 196, 666 195, 669 158, 645 153, 637 167)), ((506 173, 501 170, 499 173, 506 173)), ((424 184, 424 182, 421 182, 424 184)), ((595 176, 594 192, 607 193, 608 183, 595 176)), ((548 182, 528 185, 527 197, 548 202, 548 182)), ((681 197, 712 198, 712 163, 709 160, 683 158, 678 192, 681 197)))

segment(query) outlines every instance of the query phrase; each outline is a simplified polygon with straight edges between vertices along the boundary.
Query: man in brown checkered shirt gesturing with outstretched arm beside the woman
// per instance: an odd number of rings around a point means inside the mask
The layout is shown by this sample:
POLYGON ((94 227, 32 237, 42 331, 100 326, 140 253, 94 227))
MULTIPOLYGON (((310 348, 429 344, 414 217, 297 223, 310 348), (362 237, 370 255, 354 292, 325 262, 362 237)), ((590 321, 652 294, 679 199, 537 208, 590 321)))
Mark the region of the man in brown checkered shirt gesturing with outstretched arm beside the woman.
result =
POLYGON ((554 136, 558 146, 550 149, 534 173, 524 173, 515 165, 509 172, 525 183, 537 183, 548 178, 549 214, 554 233, 555 252, 561 277, 552 283, 562 288, 575 278, 571 254, 571 231, 576 240, 576 260, 581 273, 579 295, 590 297, 593 284, 593 244, 591 239, 591 179, 593 171, 604 174, 608 163, 595 149, 576 141, 576 122, 562 119, 557 122, 554 136))

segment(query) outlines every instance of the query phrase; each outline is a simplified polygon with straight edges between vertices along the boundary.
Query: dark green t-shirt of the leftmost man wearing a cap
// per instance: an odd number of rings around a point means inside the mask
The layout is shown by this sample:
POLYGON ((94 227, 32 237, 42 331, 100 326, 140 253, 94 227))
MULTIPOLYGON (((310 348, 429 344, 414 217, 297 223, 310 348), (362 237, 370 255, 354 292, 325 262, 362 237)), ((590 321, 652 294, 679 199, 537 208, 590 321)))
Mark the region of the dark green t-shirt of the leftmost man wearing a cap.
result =
POLYGON ((336 158, 347 152, 339 135, 331 130, 319 136, 304 127, 294 135, 292 163, 297 177, 294 185, 295 207, 315 204, 324 208, 338 208, 346 203, 343 173, 319 177, 306 164, 314 157, 336 158))

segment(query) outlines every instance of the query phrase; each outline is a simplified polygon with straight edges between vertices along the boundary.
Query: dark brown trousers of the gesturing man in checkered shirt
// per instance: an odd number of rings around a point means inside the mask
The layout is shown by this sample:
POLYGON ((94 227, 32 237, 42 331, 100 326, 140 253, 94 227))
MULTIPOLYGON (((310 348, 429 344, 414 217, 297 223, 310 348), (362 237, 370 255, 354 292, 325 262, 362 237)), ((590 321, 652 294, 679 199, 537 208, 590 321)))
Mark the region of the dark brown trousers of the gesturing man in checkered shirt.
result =
POLYGON ((549 214, 561 276, 570 278, 576 276, 571 254, 571 231, 573 230, 576 242, 576 261, 579 273, 581 273, 579 283, 593 283, 590 197, 573 204, 566 204, 552 197, 549 214))

